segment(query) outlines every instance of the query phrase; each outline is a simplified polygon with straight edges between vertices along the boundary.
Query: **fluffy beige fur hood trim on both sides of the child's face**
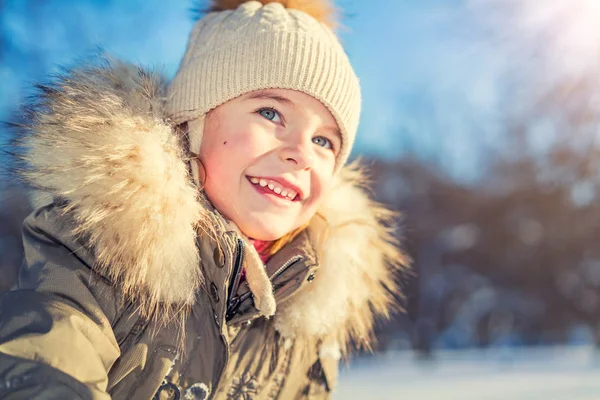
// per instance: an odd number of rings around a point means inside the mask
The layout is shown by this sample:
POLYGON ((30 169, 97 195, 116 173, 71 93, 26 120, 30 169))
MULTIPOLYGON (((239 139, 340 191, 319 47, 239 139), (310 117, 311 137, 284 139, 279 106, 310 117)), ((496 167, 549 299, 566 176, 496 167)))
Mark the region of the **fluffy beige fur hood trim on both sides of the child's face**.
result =
MULTIPOLYGON (((165 87, 118 62, 79 67, 38 86, 18 139, 28 182, 66 200, 97 271, 148 312, 193 303, 203 284, 197 236, 214 237, 224 223, 190 178, 185 146, 164 116, 165 87)), ((319 210, 328 227, 318 279, 277 305, 284 336, 337 342, 342 352, 369 346, 375 317, 397 304, 396 272, 407 258, 392 213, 364 185, 357 165, 338 173, 319 210)))

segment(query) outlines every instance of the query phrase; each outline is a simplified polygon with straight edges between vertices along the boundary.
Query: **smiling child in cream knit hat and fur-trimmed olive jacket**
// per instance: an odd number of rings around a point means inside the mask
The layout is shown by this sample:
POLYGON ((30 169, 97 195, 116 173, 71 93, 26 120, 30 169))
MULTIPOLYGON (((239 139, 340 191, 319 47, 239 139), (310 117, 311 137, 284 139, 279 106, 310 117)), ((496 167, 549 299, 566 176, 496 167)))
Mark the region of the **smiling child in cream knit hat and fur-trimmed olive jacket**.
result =
POLYGON ((327 398, 405 264, 344 167, 360 89, 319 1, 219 1, 177 75, 40 86, 3 399, 327 398), (287 7, 287 8, 286 8, 287 7))

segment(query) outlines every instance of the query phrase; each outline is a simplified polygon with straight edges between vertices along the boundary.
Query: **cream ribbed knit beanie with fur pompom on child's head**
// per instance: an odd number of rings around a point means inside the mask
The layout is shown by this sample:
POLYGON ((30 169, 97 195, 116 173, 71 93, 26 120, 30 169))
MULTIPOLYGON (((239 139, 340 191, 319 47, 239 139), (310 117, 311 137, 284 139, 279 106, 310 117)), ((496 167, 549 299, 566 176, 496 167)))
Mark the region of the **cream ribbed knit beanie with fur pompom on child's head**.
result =
MULTIPOLYGON (((169 86, 171 120, 203 119, 213 108, 254 90, 301 91, 324 104, 338 124, 339 169, 352 149, 361 100, 358 78, 325 21, 331 7, 324 0, 214 3, 219 11, 196 22, 169 86)), ((198 130, 190 132, 194 152, 202 141, 198 130)))

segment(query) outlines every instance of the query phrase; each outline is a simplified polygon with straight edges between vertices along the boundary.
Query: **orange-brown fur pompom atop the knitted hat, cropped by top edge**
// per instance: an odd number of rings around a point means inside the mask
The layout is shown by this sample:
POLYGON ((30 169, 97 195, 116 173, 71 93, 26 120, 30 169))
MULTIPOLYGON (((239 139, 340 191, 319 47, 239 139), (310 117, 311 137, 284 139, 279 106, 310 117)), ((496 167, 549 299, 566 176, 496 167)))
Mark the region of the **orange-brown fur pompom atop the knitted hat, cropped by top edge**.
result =
MULTIPOLYGON (((235 10, 248 0, 213 0, 210 11, 235 10)), ((337 10, 327 0, 258 0, 261 4, 280 3, 285 8, 302 11, 317 21, 335 28, 337 26, 337 10)))

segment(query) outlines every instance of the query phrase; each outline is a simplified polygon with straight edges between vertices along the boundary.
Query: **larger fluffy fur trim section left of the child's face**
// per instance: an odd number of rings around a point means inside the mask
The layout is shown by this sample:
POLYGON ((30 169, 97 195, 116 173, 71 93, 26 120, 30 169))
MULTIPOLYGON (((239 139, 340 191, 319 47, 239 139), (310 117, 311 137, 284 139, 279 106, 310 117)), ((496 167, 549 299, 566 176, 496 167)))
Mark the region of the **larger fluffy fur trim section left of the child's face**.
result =
POLYGON ((67 200, 63 211, 95 250, 95 267, 144 314, 159 303, 191 305, 202 282, 203 209, 179 140, 161 120, 164 84, 103 64, 37 86, 19 140, 25 178, 67 200))

